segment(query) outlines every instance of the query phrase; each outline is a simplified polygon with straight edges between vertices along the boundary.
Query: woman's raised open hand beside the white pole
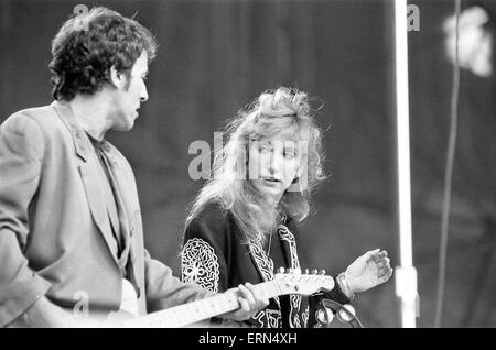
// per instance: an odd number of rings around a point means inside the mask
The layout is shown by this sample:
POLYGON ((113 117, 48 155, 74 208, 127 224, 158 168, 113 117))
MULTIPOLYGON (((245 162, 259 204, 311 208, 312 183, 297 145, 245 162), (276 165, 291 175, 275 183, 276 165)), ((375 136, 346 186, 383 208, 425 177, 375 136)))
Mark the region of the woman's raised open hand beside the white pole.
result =
POLYGON ((345 271, 346 282, 353 293, 370 289, 387 282, 391 276, 388 252, 380 249, 366 252, 345 271))

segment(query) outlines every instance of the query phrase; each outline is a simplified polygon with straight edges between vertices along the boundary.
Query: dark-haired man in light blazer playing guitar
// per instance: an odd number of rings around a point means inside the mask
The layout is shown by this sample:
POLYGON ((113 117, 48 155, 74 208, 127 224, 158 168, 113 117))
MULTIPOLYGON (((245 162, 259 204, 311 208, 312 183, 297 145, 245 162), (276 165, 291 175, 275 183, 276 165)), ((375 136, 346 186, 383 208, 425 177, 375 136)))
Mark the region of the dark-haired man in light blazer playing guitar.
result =
MULTIPOLYGON (((149 256, 133 173, 105 141, 133 127, 155 48, 115 11, 69 19, 52 45, 55 101, 0 127, 0 326, 82 326, 74 310, 144 315, 212 295, 149 256)), ((249 284, 235 292, 226 318, 268 305, 249 284)))

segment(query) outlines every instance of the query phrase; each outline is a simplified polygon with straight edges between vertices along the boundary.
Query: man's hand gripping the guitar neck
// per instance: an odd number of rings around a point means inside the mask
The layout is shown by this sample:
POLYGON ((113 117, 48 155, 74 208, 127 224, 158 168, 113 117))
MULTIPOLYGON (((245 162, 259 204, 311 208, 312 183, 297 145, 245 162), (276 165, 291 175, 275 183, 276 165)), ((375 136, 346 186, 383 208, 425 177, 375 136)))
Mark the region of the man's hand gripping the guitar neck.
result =
POLYGON ((240 284, 237 288, 231 288, 225 293, 236 292, 238 294, 238 302, 240 308, 235 311, 220 315, 222 318, 234 319, 242 321, 254 317, 259 310, 265 309, 269 305, 269 299, 266 298, 260 291, 256 291, 250 283, 240 284))

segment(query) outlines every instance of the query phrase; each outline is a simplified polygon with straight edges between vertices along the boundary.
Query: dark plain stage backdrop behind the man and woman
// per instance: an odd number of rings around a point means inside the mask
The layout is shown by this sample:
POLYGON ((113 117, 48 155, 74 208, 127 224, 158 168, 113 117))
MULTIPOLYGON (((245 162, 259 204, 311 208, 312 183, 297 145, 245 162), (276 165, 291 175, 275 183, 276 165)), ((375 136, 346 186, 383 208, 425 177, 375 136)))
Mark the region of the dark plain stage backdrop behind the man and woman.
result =
MULTIPOLYGON (((335 274, 375 248, 399 263, 392 0, 1 0, 0 122, 51 102, 51 40, 77 3, 137 13, 160 44, 134 129, 108 136, 134 169, 153 258, 180 275, 185 208, 202 186, 188 145, 213 147, 227 118, 283 85, 324 102, 331 176, 301 228, 309 267, 335 274)), ((453 3, 410 3, 420 8, 420 31, 409 32, 413 263, 418 326, 432 327, 452 85, 442 21, 453 3)), ((494 79, 462 72, 443 327, 496 327, 494 92, 494 79)), ((400 326, 393 278, 354 305, 366 327, 400 326)))

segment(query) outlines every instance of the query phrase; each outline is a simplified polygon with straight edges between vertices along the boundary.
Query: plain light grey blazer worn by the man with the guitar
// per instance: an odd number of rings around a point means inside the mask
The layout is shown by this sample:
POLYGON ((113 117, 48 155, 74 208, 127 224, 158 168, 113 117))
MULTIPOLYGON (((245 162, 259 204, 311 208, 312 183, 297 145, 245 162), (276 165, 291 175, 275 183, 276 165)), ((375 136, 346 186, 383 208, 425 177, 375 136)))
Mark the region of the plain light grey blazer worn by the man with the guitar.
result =
MULTIPOLYGON (((126 208, 140 314, 204 297, 149 256, 134 175, 108 142, 106 152, 126 208)), ((22 110, 0 127, 0 326, 42 295, 68 308, 85 296, 90 314, 119 308, 122 275, 99 166, 67 103, 22 110)))

